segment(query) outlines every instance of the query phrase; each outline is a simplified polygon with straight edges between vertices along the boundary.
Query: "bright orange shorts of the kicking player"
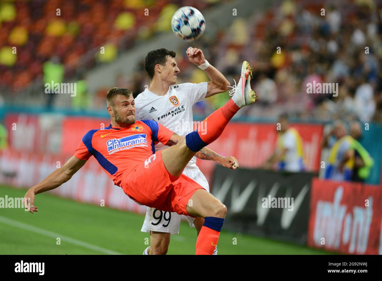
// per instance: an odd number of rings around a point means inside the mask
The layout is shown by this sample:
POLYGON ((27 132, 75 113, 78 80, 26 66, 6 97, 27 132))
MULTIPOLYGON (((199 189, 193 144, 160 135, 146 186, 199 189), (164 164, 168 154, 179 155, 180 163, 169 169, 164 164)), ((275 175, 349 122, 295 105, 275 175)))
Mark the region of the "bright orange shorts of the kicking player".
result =
POLYGON ((189 216, 186 210, 189 199, 197 189, 204 188, 184 174, 171 181, 162 160, 162 150, 154 155, 146 165, 143 162, 133 173, 123 175, 123 191, 142 205, 189 216))

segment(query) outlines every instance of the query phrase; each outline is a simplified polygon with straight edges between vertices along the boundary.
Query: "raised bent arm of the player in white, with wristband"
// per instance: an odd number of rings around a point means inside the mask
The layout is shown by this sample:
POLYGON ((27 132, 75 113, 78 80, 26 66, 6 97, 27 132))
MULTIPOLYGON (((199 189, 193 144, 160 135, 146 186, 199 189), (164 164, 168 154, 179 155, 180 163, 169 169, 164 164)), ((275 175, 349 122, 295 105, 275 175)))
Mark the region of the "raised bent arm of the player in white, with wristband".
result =
MULTIPOLYGON (((206 62, 203 52, 201 49, 189 47, 186 51, 189 61, 194 63, 197 66, 201 66, 206 62)), ((231 86, 230 82, 224 77, 224 75, 214 68, 214 66, 209 65, 206 69, 203 69, 204 72, 211 79, 208 82, 206 98, 212 95, 223 93, 228 90, 227 86, 231 86)))

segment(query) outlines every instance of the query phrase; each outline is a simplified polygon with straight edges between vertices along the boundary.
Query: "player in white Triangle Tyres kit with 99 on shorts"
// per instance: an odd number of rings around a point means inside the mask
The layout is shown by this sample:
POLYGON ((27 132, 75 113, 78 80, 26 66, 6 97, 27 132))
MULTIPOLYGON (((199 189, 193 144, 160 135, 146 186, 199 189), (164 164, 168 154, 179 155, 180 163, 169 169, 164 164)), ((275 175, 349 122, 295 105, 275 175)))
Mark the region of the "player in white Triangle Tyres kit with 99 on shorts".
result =
MULTIPOLYGON (((228 89, 227 86, 230 86, 223 74, 209 65, 200 49, 189 47, 186 53, 189 61, 207 73, 210 82, 175 85, 176 75, 180 72, 176 66, 176 54, 162 48, 147 54, 145 69, 150 77, 150 86, 149 89, 144 90, 135 98, 136 120, 156 121, 182 137, 194 130, 193 105, 206 97, 225 92, 228 89)), ((155 151, 165 147, 159 143, 155 145, 155 151)), ((196 156, 201 159, 218 161, 227 168, 236 169, 238 167, 238 161, 235 157, 222 157, 212 150, 204 153, 198 152, 196 156)), ((195 157, 189 161, 183 174, 209 191, 207 179, 196 166, 195 157)), ((186 219, 191 227, 196 227, 199 234, 204 218, 186 216, 186 219)), ((151 245, 144 250, 143 254, 166 254, 170 244, 170 234, 179 233, 180 220, 181 216, 177 213, 163 212, 147 207, 141 231, 150 233, 151 245)), ((217 254, 217 249, 215 249, 214 254, 217 254)))

